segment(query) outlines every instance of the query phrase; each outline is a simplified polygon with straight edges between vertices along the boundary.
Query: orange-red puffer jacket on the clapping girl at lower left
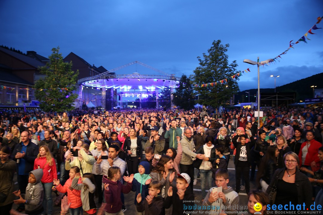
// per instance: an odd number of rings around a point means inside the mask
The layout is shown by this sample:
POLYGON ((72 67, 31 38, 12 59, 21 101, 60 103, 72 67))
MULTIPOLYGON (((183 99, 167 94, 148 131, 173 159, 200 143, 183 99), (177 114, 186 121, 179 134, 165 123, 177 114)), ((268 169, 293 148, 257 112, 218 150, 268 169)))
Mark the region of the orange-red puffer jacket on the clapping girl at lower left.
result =
MULTIPOLYGON (((78 179, 78 184, 81 184, 81 177, 78 179)), ((67 192, 67 197, 68 197, 68 204, 71 203, 70 208, 78 208, 82 206, 82 201, 81 201, 81 191, 73 189, 72 191, 68 189, 69 186, 72 185, 72 179, 69 178, 64 186, 61 184, 58 184, 56 187, 58 192, 61 193, 66 193, 67 192)))

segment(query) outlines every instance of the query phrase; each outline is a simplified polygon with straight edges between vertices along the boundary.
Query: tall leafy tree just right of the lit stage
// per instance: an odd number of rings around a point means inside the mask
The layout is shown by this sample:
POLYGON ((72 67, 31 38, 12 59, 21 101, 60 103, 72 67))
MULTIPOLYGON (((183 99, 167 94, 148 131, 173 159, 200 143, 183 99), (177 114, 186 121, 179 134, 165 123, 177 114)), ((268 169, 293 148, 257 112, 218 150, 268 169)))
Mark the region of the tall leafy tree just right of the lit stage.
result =
POLYGON ((197 57, 200 65, 193 71, 191 79, 198 84, 195 91, 199 94, 197 101, 199 104, 218 107, 226 104, 234 94, 239 92, 238 78, 230 78, 238 72, 236 61, 231 64, 228 62, 228 55, 225 54, 228 47, 229 44, 223 45, 221 40, 214 40, 208 54, 203 53, 203 58, 197 57), (227 79, 227 82, 201 87, 204 83, 213 83, 223 79, 227 79))

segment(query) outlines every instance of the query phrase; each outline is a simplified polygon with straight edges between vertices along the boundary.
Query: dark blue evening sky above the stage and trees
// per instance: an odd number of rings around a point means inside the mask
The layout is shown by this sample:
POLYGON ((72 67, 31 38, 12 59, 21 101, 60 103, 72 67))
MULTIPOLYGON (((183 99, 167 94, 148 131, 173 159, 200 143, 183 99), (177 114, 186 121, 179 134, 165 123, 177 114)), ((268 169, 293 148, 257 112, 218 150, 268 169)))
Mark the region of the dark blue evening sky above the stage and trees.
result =
MULTIPOLYGON (((78 54, 110 70, 140 61, 166 73, 190 75, 197 56, 213 40, 230 44, 238 70, 274 58, 323 16, 321 0, 274 1, 0 1, 0 44, 48 56, 60 46, 63 56, 78 54)), ((323 21, 318 24, 323 27, 323 21)), ((261 87, 274 87, 323 72, 323 29, 295 44, 280 63, 261 67, 261 87)), ((148 71, 130 66, 117 73, 148 71)), ((152 71, 149 71, 150 73, 152 71)), ((240 90, 257 87, 257 69, 241 76, 240 90)), ((218 81, 218 80, 214 80, 218 81)), ((306 87, 306 86, 305 86, 306 87)), ((309 86, 308 86, 309 87, 309 86)))

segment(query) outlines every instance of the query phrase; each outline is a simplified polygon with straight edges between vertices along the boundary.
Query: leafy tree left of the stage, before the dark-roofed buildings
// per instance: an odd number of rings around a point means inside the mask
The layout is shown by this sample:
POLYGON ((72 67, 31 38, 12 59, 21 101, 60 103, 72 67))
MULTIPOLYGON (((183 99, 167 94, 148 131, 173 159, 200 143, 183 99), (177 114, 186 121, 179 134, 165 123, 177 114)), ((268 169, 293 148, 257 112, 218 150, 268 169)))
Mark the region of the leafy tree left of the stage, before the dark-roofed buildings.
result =
POLYGON ((65 63, 59 47, 52 49, 48 57, 50 62, 39 67, 39 71, 45 74, 35 82, 34 88, 45 89, 35 90, 36 99, 40 102, 39 107, 43 111, 70 111, 74 109, 74 102, 78 97, 73 93, 76 90, 78 71, 72 71, 72 62, 65 63))

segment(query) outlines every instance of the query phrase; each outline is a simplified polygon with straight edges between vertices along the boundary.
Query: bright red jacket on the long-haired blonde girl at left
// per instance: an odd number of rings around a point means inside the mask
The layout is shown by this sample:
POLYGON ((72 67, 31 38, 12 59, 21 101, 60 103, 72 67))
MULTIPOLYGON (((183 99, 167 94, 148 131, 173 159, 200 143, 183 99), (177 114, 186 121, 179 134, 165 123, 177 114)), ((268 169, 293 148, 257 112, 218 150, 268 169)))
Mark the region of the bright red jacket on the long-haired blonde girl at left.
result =
POLYGON ((53 183, 53 179, 57 179, 56 162, 54 158, 52 159, 52 166, 49 166, 46 157, 35 159, 34 170, 38 169, 38 165, 40 169, 43 169, 43 177, 41 178, 42 183, 53 183))

